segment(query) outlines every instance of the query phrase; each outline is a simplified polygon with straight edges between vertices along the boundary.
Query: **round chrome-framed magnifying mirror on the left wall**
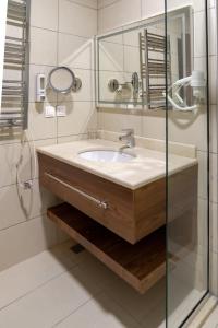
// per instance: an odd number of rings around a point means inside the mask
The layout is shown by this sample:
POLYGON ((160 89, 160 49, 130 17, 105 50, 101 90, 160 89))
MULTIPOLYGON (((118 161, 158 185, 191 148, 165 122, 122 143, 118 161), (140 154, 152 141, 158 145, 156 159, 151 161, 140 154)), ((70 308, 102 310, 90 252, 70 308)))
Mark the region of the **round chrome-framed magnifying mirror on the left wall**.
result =
POLYGON ((48 77, 49 86, 57 93, 69 93, 75 85, 76 78, 68 67, 52 69, 48 77))

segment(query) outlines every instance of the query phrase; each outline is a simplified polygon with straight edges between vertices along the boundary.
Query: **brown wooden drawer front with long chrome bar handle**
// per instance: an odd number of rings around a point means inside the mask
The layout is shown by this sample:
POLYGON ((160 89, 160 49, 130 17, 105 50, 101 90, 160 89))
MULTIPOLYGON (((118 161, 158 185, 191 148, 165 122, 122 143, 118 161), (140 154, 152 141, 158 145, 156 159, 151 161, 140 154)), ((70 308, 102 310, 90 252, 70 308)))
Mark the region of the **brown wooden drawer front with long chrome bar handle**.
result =
POLYGON ((49 156, 38 156, 44 187, 124 239, 135 243, 132 190, 49 156))

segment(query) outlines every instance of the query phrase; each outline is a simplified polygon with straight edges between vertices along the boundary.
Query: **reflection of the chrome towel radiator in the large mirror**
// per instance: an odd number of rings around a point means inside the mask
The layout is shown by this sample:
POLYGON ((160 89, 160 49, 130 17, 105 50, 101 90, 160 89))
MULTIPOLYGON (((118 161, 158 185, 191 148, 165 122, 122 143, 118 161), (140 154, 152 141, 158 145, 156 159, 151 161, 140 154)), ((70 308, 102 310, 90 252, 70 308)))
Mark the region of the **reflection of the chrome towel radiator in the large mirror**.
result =
POLYGON ((166 77, 171 85, 170 40, 166 43, 165 36, 148 33, 146 28, 138 36, 143 104, 149 109, 165 108, 166 77))

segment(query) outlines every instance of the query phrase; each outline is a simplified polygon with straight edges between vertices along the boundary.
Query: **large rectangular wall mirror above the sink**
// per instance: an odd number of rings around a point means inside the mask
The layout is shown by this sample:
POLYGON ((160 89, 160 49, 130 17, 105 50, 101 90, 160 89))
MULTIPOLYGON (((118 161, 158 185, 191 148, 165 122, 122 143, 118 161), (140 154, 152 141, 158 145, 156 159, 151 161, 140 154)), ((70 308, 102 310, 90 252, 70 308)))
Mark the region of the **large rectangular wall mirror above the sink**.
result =
MULTIPOLYGON (((192 73, 192 8, 158 15, 97 36, 96 85, 99 107, 165 108, 168 85, 192 73)), ((187 87, 189 89, 189 87, 187 87)), ((191 92, 181 90, 191 102, 191 92)))

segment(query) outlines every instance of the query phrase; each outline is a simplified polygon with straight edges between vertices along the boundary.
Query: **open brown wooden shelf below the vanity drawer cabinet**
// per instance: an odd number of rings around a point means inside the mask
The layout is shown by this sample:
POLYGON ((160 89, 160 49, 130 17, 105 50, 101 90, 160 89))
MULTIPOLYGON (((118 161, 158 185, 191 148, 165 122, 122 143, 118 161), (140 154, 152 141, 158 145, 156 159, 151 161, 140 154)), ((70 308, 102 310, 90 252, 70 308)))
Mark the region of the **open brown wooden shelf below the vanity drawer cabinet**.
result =
POLYGON ((166 273, 165 226, 131 245, 68 203, 48 218, 142 294, 166 273))

